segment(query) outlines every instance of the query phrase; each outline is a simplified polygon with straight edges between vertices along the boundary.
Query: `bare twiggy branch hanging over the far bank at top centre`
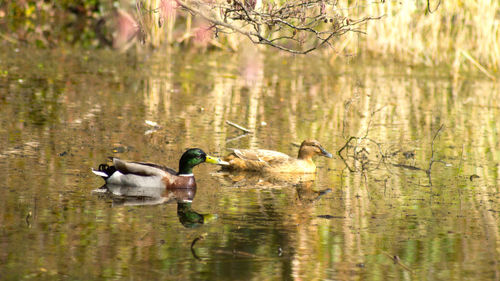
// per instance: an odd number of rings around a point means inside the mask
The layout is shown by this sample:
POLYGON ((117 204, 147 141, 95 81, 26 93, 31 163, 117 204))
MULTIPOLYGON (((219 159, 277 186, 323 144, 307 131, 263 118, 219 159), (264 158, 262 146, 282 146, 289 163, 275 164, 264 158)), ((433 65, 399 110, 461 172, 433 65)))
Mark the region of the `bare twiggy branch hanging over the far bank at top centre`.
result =
POLYGON ((239 33, 254 44, 292 54, 307 54, 324 45, 332 47, 336 38, 347 32, 364 33, 359 26, 382 17, 353 20, 342 14, 345 8, 337 7, 337 1, 326 0, 286 1, 282 6, 266 2, 263 8, 242 0, 175 2, 178 8, 209 22, 217 34, 239 33))

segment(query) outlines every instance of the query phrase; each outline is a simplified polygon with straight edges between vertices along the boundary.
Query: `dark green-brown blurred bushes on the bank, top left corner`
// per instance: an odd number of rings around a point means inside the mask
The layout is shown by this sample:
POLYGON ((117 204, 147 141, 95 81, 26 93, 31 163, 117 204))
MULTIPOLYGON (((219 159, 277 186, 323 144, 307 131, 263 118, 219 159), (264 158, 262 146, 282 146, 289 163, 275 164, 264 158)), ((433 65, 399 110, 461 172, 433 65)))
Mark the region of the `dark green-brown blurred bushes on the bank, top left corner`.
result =
POLYGON ((10 43, 40 48, 61 44, 95 48, 101 45, 97 23, 117 4, 99 0, 2 1, 0 36, 10 43))

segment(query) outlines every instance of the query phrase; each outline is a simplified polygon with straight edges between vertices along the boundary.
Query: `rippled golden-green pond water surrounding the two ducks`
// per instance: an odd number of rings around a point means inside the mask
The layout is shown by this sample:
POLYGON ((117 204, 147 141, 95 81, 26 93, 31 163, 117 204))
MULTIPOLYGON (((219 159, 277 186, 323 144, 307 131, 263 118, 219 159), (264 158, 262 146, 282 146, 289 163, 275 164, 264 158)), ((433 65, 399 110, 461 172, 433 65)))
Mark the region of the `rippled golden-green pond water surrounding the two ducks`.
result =
POLYGON ((498 280, 499 88, 448 72, 2 47, 0 279, 498 280), (177 168, 306 138, 334 154, 306 180, 202 164, 161 202, 93 192, 109 156, 177 168))

